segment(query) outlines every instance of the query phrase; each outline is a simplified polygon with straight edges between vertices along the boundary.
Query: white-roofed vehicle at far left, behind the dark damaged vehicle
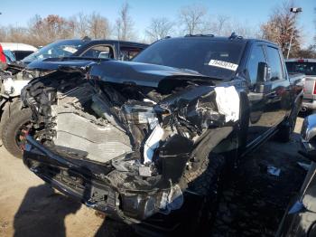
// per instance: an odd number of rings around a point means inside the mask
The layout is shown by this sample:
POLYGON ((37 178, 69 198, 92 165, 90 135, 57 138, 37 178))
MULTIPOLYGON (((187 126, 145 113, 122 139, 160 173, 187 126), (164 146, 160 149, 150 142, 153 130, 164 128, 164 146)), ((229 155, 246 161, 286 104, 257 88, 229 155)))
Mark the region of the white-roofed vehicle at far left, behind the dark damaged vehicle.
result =
POLYGON ((26 56, 37 51, 37 48, 25 43, 1 43, 4 50, 10 51, 14 54, 16 61, 21 61, 26 56))

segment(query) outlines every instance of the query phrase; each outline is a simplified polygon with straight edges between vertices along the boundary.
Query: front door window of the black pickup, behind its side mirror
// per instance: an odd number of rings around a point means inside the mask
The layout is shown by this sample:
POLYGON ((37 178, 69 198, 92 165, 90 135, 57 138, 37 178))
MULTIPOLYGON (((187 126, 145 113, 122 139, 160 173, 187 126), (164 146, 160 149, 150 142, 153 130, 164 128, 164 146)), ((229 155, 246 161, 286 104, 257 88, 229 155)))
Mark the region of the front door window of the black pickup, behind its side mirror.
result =
POLYGON ((250 54, 247 64, 248 76, 251 84, 256 84, 256 74, 258 71, 258 63, 265 62, 265 52, 261 45, 256 45, 250 54))

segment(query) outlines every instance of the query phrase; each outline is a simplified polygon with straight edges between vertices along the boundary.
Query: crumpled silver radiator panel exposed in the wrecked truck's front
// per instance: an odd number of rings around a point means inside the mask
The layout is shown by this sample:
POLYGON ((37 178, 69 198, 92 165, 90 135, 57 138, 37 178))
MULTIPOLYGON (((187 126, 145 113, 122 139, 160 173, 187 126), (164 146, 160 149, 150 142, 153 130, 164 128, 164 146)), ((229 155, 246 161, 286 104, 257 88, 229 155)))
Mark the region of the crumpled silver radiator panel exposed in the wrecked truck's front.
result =
POLYGON ((107 162, 132 151, 129 137, 111 124, 98 126, 74 113, 57 115, 55 145, 88 152, 88 159, 107 162))

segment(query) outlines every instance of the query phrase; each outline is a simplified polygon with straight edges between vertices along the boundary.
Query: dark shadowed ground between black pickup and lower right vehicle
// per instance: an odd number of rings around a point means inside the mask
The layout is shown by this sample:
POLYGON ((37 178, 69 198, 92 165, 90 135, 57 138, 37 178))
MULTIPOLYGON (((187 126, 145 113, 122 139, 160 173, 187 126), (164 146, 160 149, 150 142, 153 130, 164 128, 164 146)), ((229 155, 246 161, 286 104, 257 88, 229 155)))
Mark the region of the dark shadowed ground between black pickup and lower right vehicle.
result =
POLYGON ((297 154, 302 120, 298 118, 291 142, 272 139, 243 158, 223 192, 212 236, 274 236, 306 175, 297 165, 308 163, 297 154), (280 175, 269 175, 267 166, 280 168, 280 175))

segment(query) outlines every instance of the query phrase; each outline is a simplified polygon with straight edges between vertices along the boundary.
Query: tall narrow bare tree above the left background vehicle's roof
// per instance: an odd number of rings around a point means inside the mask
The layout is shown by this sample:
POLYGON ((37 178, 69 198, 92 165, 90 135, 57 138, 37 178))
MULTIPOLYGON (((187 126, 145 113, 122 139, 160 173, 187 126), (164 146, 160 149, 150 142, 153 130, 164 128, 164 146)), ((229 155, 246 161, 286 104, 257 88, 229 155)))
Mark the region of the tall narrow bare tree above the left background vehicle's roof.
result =
POLYGON ((118 12, 116 19, 116 37, 118 40, 127 41, 134 37, 134 22, 129 14, 130 6, 125 3, 118 12))

